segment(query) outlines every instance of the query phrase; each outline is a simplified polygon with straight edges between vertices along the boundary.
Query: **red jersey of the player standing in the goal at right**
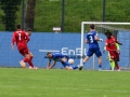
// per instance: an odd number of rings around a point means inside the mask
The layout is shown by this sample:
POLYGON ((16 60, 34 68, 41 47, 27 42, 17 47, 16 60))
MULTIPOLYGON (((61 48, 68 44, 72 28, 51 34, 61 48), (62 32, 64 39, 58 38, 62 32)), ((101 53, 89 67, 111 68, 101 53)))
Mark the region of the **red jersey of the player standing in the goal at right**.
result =
POLYGON ((110 39, 106 39, 105 45, 107 51, 117 51, 116 46, 117 40, 114 37, 110 37, 110 39))

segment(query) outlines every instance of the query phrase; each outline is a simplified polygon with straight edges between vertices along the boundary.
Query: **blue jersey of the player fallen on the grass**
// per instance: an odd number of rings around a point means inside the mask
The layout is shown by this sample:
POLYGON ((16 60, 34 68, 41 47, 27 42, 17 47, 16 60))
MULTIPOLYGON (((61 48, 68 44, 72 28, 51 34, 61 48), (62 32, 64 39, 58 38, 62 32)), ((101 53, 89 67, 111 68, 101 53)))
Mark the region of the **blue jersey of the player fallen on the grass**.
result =
POLYGON ((68 60, 68 56, 63 55, 63 54, 52 54, 52 58, 49 58, 49 60, 54 60, 54 61, 62 61, 62 58, 66 58, 68 60))

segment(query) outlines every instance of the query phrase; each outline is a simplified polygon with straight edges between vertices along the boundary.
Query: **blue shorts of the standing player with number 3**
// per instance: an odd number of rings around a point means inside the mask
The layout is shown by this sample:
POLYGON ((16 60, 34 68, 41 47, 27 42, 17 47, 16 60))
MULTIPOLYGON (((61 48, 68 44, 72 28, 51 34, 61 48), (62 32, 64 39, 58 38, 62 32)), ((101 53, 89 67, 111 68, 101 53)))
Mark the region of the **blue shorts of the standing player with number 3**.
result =
POLYGON ((91 57, 93 54, 95 54, 96 57, 102 56, 102 53, 99 47, 91 47, 88 50, 87 56, 91 57))

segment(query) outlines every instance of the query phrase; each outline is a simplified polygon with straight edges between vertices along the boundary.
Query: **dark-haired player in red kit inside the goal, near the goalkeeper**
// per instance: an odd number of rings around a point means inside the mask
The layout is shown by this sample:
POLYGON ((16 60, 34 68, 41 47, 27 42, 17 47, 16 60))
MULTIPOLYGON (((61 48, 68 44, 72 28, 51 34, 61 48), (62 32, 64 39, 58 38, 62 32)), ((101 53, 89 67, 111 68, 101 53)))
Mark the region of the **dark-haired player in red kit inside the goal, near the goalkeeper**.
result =
POLYGON ((108 51, 108 53, 110 55, 110 58, 114 59, 117 70, 120 70, 119 69, 119 65, 118 65, 118 61, 119 61, 119 52, 118 52, 118 48, 116 46, 116 43, 118 43, 119 45, 122 45, 122 44, 119 43, 115 39, 115 37, 112 34, 112 32, 107 31, 107 32, 105 32, 105 36, 107 38, 106 42, 105 42, 106 50, 108 51))

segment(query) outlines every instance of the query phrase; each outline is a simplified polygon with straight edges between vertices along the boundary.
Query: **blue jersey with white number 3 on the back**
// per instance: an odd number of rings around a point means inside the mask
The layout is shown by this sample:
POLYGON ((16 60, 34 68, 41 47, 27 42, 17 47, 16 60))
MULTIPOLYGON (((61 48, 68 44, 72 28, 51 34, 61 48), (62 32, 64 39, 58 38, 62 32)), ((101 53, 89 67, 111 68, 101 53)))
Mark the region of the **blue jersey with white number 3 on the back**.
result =
POLYGON ((94 39, 94 37, 98 36, 98 32, 95 30, 90 31, 87 33, 86 39, 89 41, 89 47, 99 47, 98 41, 94 39))

